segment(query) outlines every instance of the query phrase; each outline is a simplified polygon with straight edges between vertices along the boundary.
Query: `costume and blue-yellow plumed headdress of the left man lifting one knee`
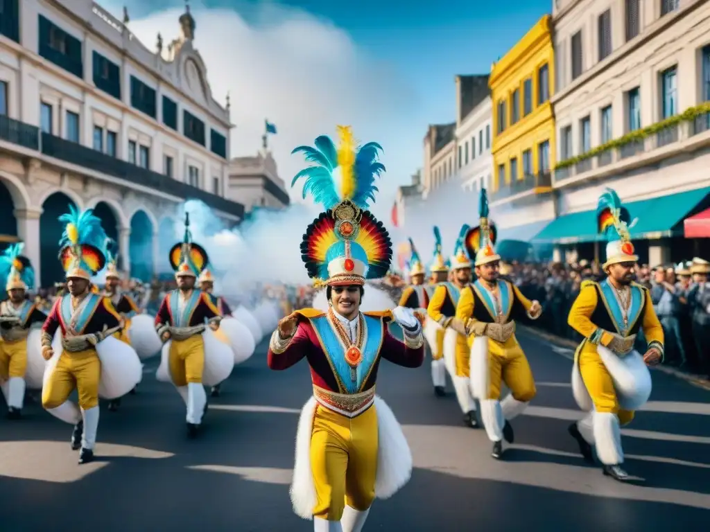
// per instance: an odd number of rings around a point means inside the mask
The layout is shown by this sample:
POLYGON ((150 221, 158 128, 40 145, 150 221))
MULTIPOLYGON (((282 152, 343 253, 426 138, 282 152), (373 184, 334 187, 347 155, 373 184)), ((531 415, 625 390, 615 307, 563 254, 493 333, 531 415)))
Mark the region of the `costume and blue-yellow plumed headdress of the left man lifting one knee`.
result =
POLYGON ((59 258, 67 281, 84 279, 87 287, 83 294, 58 297, 42 328, 42 349, 46 359, 53 354, 52 341, 57 329, 62 331, 62 353, 50 377, 45 380, 42 406, 48 410, 60 408, 77 389, 83 421, 75 427, 72 446, 78 448, 81 445, 82 463, 93 458, 99 427, 101 362, 96 345, 118 331, 122 323, 111 300, 89 289, 91 278, 106 264, 104 245, 107 236, 101 220, 92 209, 80 212, 71 206, 70 212, 60 216, 59 221, 66 224, 60 240, 59 258))

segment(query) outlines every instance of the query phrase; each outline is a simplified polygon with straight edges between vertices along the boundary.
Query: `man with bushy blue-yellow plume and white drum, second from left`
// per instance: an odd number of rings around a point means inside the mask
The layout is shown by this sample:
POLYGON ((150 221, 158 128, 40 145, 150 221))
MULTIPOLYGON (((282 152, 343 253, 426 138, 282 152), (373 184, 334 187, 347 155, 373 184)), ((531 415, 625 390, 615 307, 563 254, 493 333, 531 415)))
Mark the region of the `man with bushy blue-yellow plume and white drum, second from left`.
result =
POLYGON ((129 392, 140 378, 139 371, 136 375, 122 375, 126 368, 133 367, 131 357, 139 368, 140 362, 129 345, 109 338, 123 327, 121 316, 110 299, 90 289, 90 279, 106 265, 107 236, 101 220, 92 209, 78 211, 71 206, 70 212, 62 214, 59 221, 65 224, 59 258, 67 275, 69 294, 55 301, 43 326, 42 354, 45 360, 52 360, 48 364, 51 374, 45 378, 42 390, 42 404, 60 419, 76 423, 72 448, 81 448, 79 462, 84 463, 94 458, 102 372, 111 374, 107 385, 115 395, 111 393, 107 399, 114 399, 129 392), (62 338, 61 353, 55 353, 53 348, 58 329, 62 338), (111 365, 116 356, 123 359, 119 362, 122 369, 111 365), (79 392, 81 415, 67 401, 74 388, 72 383, 76 383, 79 392))

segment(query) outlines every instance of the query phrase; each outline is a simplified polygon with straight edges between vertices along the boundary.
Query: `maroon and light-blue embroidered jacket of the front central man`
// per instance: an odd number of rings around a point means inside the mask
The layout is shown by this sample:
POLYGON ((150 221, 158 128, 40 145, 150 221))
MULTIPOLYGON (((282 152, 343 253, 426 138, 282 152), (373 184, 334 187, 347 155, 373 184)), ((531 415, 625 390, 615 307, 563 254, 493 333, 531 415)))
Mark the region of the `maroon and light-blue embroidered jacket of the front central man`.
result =
POLYGON ((281 340, 278 330, 274 331, 268 350, 268 367, 285 370, 305 358, 310 365, 317 399, 317 392, 331 396, 373 393, 382 358, 403 367, 420 367, 424 362, 421 328, 417 328, 415 336, 405 331, 404 342, 400 342, 388 332, 388 323, 393 319, 389 311, 360 314, 362 360, 356 370, 351 370, 346 361, 346 347, 332 317, 316 309, 301 309, 297 313, 299 323, 291 338, 281 340))

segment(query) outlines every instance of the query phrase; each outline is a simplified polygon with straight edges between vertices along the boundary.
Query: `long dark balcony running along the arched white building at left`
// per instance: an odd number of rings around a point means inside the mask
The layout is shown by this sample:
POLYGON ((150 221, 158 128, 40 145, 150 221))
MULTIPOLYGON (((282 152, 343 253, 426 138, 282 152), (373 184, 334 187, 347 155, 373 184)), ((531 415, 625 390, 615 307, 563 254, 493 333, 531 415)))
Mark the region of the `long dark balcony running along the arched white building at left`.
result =
POLYGON ((168 192, 185 199, 185 201, 199 199, 212 209, 244 218, 244 205, 236 201, 210 194, 205 190, 176 181, 164 174, 131 165, 131 163, 124 160, 116 159, 116 157, 111 157, 55 135, 40 132, 39 128, 35 126, 13 120, 13 118, 7 116, 0 116, 1 140, 43 153, 43 155, 48 155, 49 157, 70 162, 72 165, 88 168, 111 177, 118 177, 143 187, 168 192))

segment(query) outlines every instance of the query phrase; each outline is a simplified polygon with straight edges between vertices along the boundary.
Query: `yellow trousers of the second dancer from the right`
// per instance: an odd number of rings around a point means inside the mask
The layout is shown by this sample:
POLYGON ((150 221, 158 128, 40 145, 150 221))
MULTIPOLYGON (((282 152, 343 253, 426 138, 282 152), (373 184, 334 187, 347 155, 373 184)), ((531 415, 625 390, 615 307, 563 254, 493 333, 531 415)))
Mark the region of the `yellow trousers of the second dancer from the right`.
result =
POLYGON ((488 338, 488 399, 500 399, 503 382, 516 401, 528 403, 537 394, 530 364, 515 336, 506 343, 488 338))

